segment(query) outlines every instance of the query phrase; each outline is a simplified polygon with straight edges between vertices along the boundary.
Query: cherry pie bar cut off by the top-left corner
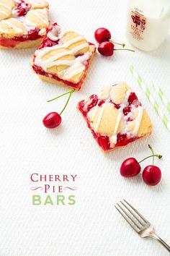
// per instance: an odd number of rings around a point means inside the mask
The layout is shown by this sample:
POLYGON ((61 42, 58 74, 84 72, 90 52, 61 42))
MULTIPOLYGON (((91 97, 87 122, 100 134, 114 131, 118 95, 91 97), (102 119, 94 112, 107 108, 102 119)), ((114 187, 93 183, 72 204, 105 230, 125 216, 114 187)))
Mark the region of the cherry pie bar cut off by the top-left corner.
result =
POLYGON ((47 1, 0 0, 0 48, 40 46, 48 27, 47 1))

